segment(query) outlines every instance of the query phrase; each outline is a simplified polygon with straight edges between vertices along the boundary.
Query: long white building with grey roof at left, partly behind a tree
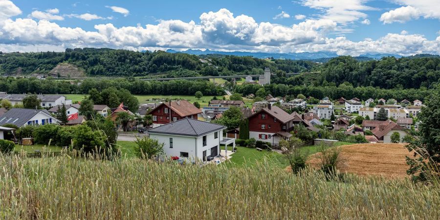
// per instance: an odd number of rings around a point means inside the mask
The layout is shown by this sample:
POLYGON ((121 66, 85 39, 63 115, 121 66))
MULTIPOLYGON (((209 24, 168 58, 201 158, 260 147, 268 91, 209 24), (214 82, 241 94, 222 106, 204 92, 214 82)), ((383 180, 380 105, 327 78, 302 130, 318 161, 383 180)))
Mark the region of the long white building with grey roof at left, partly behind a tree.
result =
MULTIPOLYGON (((27 94, 6 94, 1 93, 0 99, 6 99, 11 102, 12 105, 22 105, 23 104, 23 98, 27 94)), ((66 99, 66 96, 64 95, 45 95, 45 94, 39 94, 37 97, 41 100, 40 106, 41 107, 54 107, 57 105, 71 105, 72 100, 66 99)))

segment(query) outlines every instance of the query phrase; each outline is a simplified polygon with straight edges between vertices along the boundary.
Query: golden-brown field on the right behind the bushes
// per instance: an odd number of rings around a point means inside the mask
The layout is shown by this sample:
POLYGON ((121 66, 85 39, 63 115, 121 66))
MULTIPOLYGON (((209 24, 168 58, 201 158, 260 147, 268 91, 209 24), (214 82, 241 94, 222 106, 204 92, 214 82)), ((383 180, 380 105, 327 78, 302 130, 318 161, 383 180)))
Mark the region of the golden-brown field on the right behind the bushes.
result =
MULTIPOLYGON (((389 178, 406 177, 408 165, 405 156, 413 156, 404 144, 353 144, 341 146, 341 172, 361 176, 374 175, 389 178)), ((317 153, 319 154, 319 153, 317 153)), ((317 154, 310 156, 308 163, 318 168, 317 154)))

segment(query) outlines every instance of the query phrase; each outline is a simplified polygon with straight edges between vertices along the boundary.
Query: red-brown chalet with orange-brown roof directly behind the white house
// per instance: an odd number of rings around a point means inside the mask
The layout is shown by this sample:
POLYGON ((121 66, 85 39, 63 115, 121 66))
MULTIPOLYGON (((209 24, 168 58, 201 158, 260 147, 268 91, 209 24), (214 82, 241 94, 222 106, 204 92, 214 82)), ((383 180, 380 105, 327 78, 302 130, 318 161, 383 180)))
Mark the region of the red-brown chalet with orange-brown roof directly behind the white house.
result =
POLYGON ((198 120, 197 115, 202 113, 197 107, 186 100, 161 103, 150 113, 153 115, 153 128, 178 121, 183 118, 193 118, 198 120))

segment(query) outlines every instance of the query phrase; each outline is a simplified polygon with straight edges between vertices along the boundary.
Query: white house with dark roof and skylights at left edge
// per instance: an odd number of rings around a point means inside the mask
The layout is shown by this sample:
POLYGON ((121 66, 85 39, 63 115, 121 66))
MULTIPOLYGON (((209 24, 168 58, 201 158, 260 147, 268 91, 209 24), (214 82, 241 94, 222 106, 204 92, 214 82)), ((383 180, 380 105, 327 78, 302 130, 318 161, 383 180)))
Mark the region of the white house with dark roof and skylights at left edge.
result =
POLYGON ((16 125, 19 128, 27 125, 59 124, 47 110, 10 109, 0 116, 0 126, 16 125))

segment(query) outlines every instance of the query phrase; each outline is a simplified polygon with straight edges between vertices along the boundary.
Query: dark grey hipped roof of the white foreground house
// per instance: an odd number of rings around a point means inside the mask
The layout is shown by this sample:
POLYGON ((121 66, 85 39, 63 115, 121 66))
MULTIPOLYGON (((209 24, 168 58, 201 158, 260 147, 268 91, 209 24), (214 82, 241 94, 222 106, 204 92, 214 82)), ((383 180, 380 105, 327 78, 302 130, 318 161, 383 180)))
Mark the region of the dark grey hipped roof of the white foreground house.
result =
POLYGON ((208 133, 220 131, 226 127, 214 123, 198 121, 191 118, 180 119, 154 129, 148 130, 148 133, 183 135, 199 137, 208 133))

